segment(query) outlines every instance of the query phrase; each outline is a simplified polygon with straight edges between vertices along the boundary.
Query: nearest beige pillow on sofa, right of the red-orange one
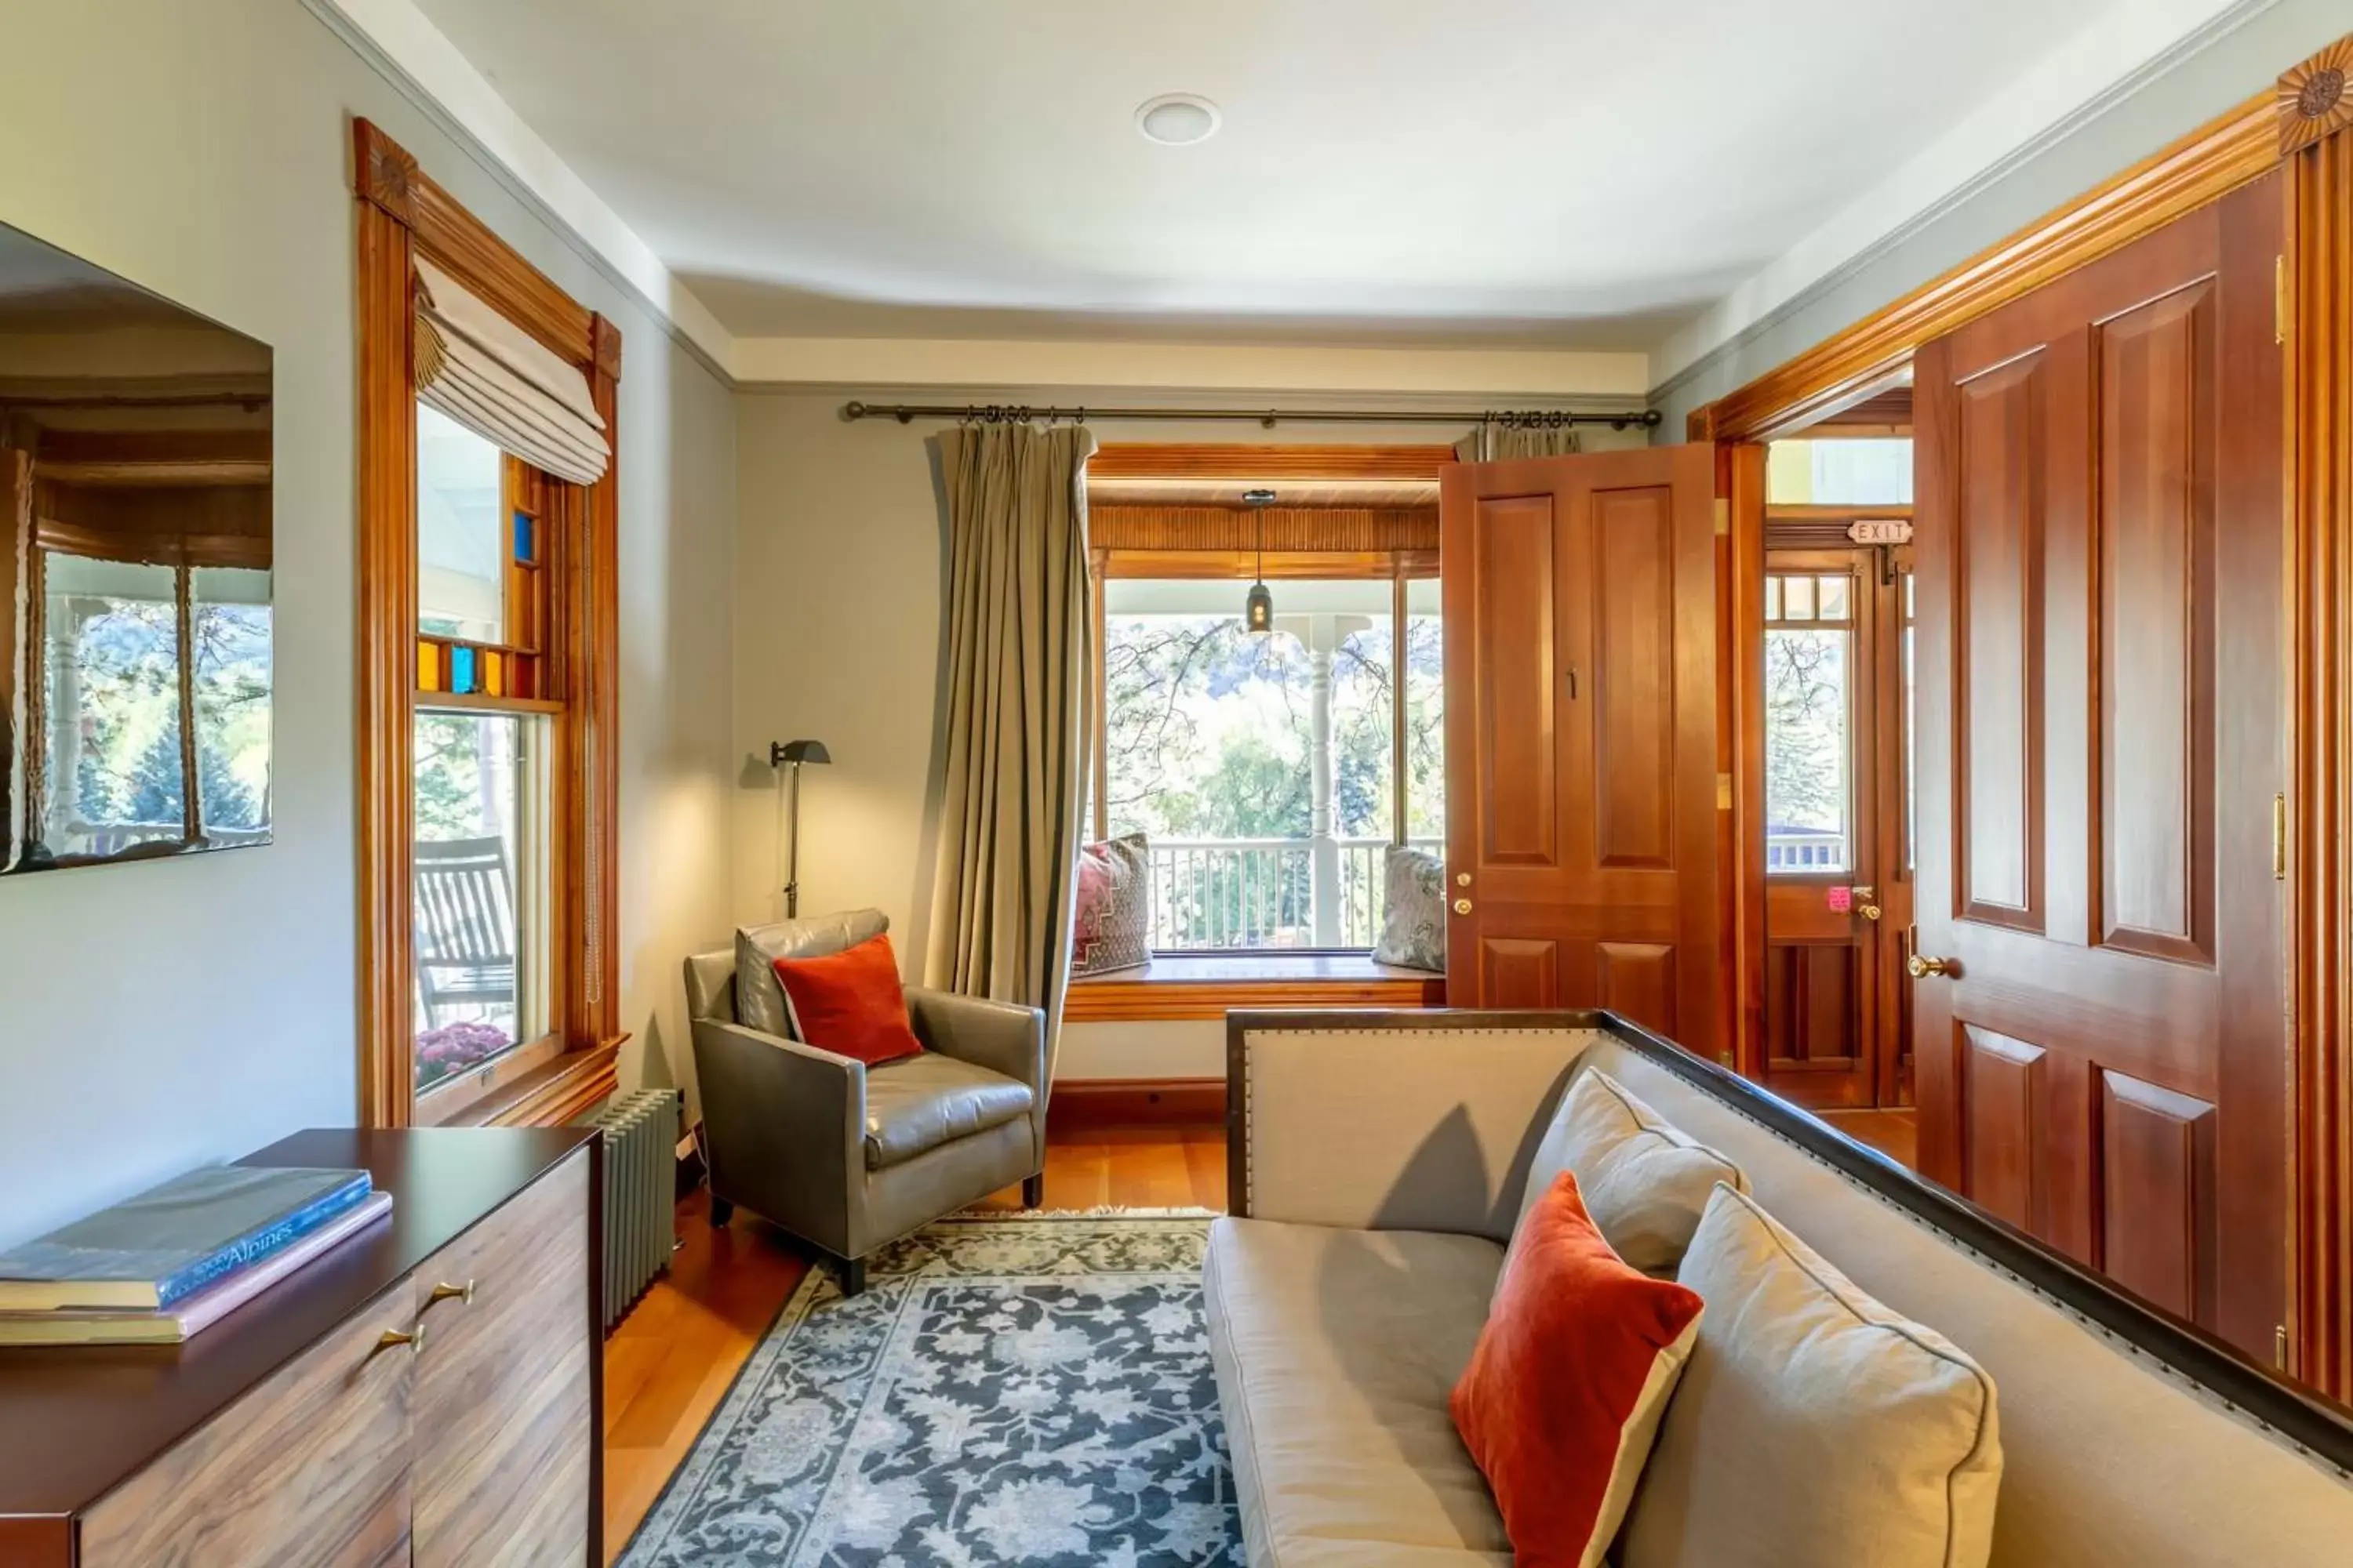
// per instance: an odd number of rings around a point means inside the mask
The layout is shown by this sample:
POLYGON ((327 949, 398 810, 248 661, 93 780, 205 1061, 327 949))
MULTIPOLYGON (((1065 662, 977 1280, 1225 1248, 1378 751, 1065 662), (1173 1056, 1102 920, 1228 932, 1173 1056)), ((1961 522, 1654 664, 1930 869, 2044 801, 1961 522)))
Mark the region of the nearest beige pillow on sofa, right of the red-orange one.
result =
POLYGON ((1626 1519, 1624 1568, 1984 1568, 1993 1380, 1718 1187, 1682 1260, 1708 1312, 1626 1519))

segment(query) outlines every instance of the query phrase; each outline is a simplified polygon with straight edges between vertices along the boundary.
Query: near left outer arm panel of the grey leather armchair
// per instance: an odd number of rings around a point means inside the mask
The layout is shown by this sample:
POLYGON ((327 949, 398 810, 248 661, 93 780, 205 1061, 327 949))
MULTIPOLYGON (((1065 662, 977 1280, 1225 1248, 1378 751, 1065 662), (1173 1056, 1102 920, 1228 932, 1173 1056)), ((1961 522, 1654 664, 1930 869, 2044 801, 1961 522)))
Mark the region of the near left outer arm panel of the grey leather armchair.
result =
POLYGON ((866 1180, 866 1063, 694 1020, 711 1192, 849 1255, 849 1194, 866 1180))

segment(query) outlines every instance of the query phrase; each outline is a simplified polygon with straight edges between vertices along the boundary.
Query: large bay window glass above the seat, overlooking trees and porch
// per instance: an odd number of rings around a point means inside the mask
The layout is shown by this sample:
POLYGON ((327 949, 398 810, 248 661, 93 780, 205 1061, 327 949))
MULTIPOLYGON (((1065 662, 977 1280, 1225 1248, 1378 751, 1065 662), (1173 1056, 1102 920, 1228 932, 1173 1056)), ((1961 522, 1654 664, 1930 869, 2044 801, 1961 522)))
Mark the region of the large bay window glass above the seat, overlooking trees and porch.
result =
POLYGON ((1369 950, 1384 851, 1445 837, 1438 581, 1282 578, 1273 632, 1245 585, 1104 583, 1099 820, 1151 837, 1158 952, 1369 950))

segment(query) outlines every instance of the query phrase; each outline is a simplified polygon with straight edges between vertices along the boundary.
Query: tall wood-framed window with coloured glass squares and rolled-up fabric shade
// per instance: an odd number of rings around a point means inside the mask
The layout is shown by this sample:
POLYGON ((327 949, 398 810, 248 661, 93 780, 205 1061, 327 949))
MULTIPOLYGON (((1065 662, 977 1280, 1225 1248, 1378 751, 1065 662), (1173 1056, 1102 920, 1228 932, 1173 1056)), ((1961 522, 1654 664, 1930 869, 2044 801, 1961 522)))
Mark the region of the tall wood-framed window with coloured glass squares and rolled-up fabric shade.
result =
POLYGON ((619 334, 365 120, 362 1119, 614 1088, 619 334))

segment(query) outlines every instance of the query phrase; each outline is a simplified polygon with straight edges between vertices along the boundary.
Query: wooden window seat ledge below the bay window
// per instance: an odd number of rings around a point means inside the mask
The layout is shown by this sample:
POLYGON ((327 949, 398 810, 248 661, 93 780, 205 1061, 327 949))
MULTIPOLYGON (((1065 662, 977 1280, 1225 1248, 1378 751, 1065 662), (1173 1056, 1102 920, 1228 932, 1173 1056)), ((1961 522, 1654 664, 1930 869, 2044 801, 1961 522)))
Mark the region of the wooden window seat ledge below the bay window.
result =
POLYGON ((1447 1004, 1445 976, 1365 952, 1169 952, 1141 969, 1071 980, 1066 1023, 1224 1018, 1228 1009, 1447 1004))

